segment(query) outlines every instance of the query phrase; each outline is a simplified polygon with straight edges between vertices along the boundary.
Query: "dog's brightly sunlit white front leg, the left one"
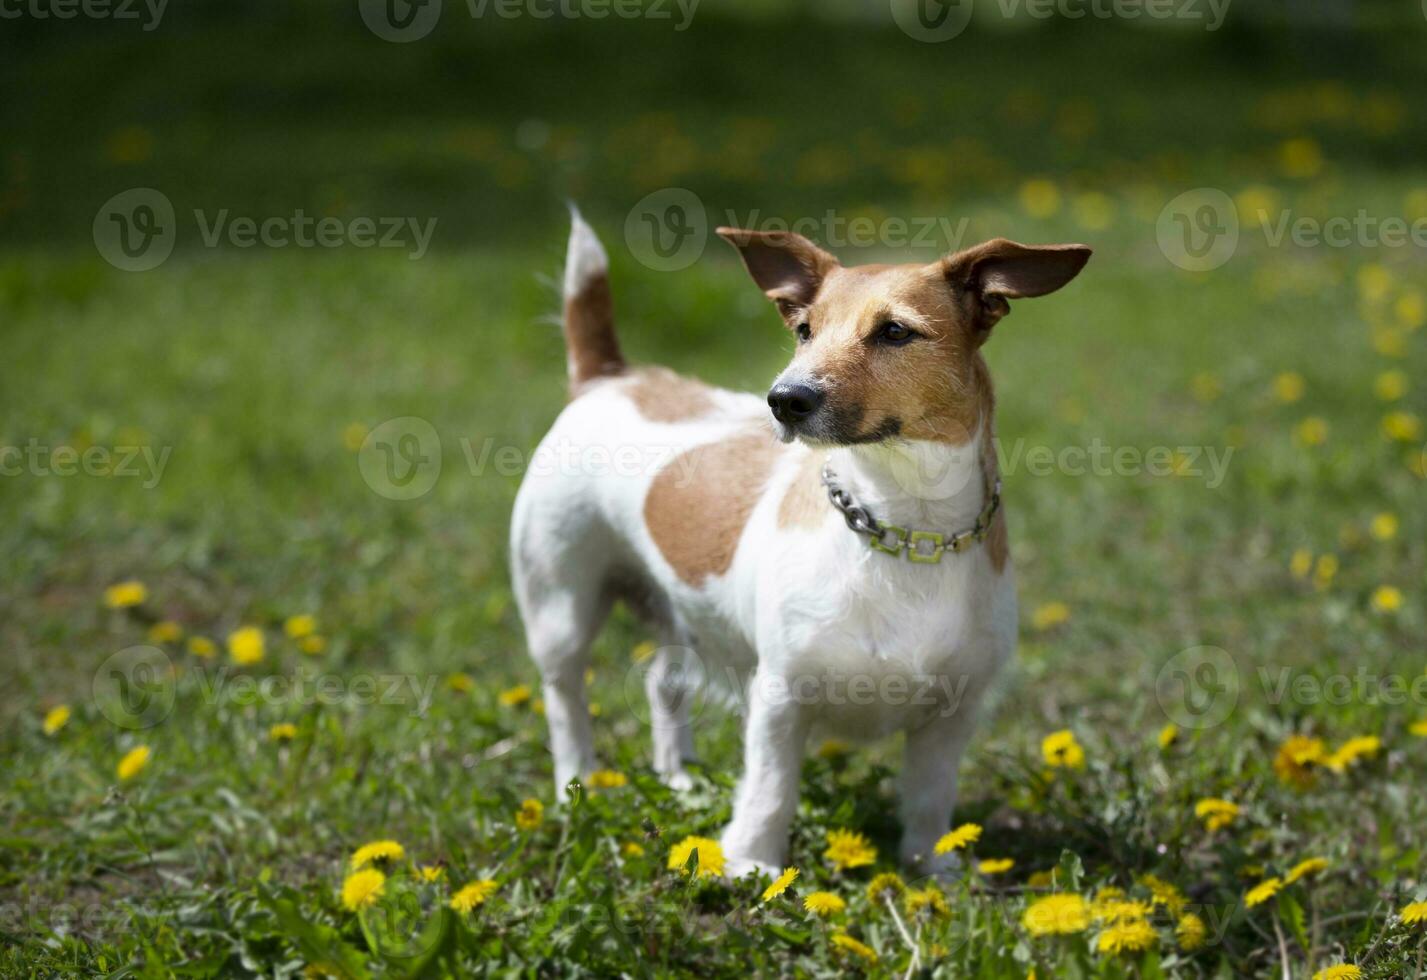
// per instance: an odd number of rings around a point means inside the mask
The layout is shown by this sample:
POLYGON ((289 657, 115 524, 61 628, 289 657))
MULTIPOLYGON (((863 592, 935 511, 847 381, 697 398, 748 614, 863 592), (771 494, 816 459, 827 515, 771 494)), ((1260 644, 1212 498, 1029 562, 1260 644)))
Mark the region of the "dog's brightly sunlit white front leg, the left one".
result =
POLYGON ((778 874, 788 854, 788 826, 798 810, 808 713, 775 685, 755 676, 743 730, 743 776, 733 797, 733 819, 723 829, 729 877, 759 870, 778 874))

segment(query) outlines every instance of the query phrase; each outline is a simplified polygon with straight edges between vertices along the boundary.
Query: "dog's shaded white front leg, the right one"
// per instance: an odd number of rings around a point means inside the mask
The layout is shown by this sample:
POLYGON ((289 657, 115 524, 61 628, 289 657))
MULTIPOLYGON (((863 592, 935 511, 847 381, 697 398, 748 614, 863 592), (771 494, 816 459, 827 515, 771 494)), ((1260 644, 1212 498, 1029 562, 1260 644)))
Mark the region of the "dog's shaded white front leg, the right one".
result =
POLYGON ((976 728, 975 709, 962 703, 906 733, 902 762, 902 863, 919 874, 945 874, 952 854, 936 854, 950 830, 962 753, 976 728))

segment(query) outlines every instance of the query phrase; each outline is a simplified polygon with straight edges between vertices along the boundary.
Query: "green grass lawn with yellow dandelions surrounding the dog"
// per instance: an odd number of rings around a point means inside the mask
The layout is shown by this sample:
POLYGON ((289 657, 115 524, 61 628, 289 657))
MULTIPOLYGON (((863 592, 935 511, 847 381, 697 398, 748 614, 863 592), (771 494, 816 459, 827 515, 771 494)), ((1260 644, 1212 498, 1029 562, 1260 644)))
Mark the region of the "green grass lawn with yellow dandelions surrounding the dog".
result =
MULTIPOLYGON (((1391 438, 1383 421, 1427 415, 1421 250, 1274 248, 1244 234, 1230 262, 1192 274, 1156 248, 1154 221, 1202 184, 1236 195, 1250 227, 1256 204, 1411 217, 1427 127, 1408 107, 1427 78, 1398 54, 1420 49, 1421 23, 1364 29, 1320 60, 1251 21, 1216 39, 986 33, 955 49, 952 70, 946 49, 892 30, 786 16, 753 27, 711 14, 675 39, 636 24, 452 24, 414 46, 374 46, 354 11, 321 6, 273 10, 281 30, 218 9, 170 17, 138 44, 108 26, 27 24, 33 44, 0 68, 7 90, 23 78, 34 93, 4 108, 17 148, 0 184, 0 445, 167 451, 156 482, 29 464, 0 478, 0 973, 900 976, 902 927, 938 976, 1420 971, 1423 927, 1397 912, 1427 899, 1427 739, 1411 729, 1427 716, 1427 437, 1391 438), (324 44, 308 44, 318 29, 324 44), (731 70, 731 46, 766 70, 731 70), (987 94, 1009 60, 1025 77, 987 94), (1140 86, 1116 84, 1109 63, 1140 86), (845 94, 839 118, 806 111, 808 71, 845 94), (84 97, 96 77, 108 84, 84 97), (511 78, 519 91, 471 104, 469 91, 511 78), (544 143, 522 128, 532 118, 544 143), (1294 138, 1323 163, 1286 173, 1294 138), (1023 193, 1037 178, 1056 207, 1023 193), (1096 247, 1076 284, 1017 304, 987 347, 1023 632, 956 822, 983 827, 973 862, 1015 864, 943 884, 949 914, 899 902, 895 917, 865 893, 893 869, 895 745, 811 755, 788 894, 762 903, 761 884, 669 870, 674 844, 716 837, 728 816, 738 723, 702 712, 695 792, 662 789, 632 682, 646 638, 622 613, 596 648, 592 698, 601 757, 626 783, 557 806, 544 722, 518 698, 537 685, 505 576, 519 468, 472 468, 467 449, 525 454, 562 404, 549 280, 565 195, 611 245, 632 357, 752 389, 781 368, 791 344, 721 244, 678 272, 625 248, 625 211, 668 184, 719 220, 761 204, 782 217, 949 214, 968 218, 968 240, 1096 247), (407 261, 204 248, 190 223, 163 267, 124 274, 88 228, 134 185, 161 188, 180 214, 305 207, 440 225, 407 261), (1104 195, 1092 201, 1107 201, 1107 218, 1087 211, 1089 194, 1104 195), (1374 391, 1384 371, 1408 381, 1397 401, 1374 391), (1286 372, 1300 397, 1286 398, 1286 372), (441 476, 391 501, 352 446, 412 415, 440 435, 441 476), (1310 418, 1326 424, 1321 444, 1304 439, 1310 418), (1207 472, 1040 475, 1032 462, 1036 446, 1095 441, 1233 452, 1213 485, 1207 472), (1374 536, 1380 514, 1396 534, 1374 536), (106 608, 104 589, 128 579, 146 601, 106 608), (1381 586, 1400 608, 1374 606, 1381 586), (300 613, 315 616, 320 653, 284 633, 300 613), (184 638, 151 640, 158 622, 184 638), (265 636, 255 665, 223 649, 247 625, 265 636), (195 635, 218 655, 190 653, 195 635), (137 645, 174 670, 153 679, 171 710, 134 729, 94 690, 107 689, 101 665, 137 645), (1182 650, 1199 646, 1224 650, 1233 672, 1220 679, 1237 680, 1232 710, 1203 728, 1172 673, 1194 668, 1182 650), (73 715, 46 733, 57 705, 73 715), (280 723, 294 737, 274 740, 280 723), (1043 757, 1043 737, 1065 729, 1080 769, 1043 757), (1304 773, 1280 759, 1293 735, 1324 743, 1304 773), (1324 765, 1354 736, 1381 746, 1343 772, 1324 765), (120 780, 137 746, 151 759, 120 780), (528 797, 544 813, 522 830, 528 797), (1240 807, 1216 832, 1196 816, 1212 797, 1240 807), (839 827, 868 836, 875 864, 823 859, 839 827), (382 839, 405 857, 355 914, 341 902, 348 860, 382 839), (1246 904, 1313 856, 1324 872, 1246 904), (437 864, 437 882, 417 870, 437 864), (1023 922, 1052 890, 1150 902, 1146 874, 1186 903, 1154 906, 1147 951, 1099 951, 1103 923, 1055 937, 1023 922), (492 897, 448 909, 484 879, 499 883, 492 897), (815 889, 846 910, 805 913, 815 889), (1193 951, 1174 937, 1186 910, 1207 930, 1193 951), (843 930, 876 963, 839 951, 843 930)), ((1193 676, 1200 693, 1217 688, 1193 676)))

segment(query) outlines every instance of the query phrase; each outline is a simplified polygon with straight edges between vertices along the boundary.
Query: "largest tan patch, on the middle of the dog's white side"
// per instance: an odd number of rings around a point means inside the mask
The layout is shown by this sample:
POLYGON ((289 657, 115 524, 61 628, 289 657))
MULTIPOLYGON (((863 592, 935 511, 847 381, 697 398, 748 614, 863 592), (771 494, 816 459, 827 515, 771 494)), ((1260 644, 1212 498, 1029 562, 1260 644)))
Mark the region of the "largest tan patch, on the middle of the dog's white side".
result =
POLYGON ((781 446, 765 431, 695 446, 659 471, 644 522, 659 553, 689 585, 722 575, 781 446))

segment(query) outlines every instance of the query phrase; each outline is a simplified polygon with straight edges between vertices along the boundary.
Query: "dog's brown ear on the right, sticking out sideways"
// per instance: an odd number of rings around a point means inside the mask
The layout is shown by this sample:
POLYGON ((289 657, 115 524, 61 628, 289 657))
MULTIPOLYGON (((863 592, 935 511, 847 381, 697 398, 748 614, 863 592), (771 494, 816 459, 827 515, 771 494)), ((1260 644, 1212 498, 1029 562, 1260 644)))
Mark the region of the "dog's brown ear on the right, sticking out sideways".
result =
POLYGON ((992 238, 943 258, 942 274, 949 284, 976 298, 977 327, 989 331, 1010 312, 1007 300, 1055 292, 1087 261, 1087 245, 1022 245, 992 238))

